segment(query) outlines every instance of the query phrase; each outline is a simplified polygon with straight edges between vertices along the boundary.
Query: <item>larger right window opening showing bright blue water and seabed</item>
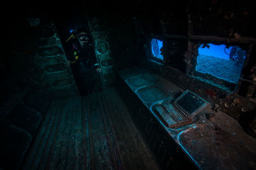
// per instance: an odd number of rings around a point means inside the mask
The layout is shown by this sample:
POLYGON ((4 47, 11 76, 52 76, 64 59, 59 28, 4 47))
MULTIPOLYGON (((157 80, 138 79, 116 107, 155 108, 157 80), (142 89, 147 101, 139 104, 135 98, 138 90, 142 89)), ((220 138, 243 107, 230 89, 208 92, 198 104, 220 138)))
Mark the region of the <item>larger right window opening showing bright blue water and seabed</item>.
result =
POLYGON ((239 46, 208 44, 205 48, 198 48, 196 71, 209 73, 221 80, 237 83, 243 68, 246 52, 239 46))

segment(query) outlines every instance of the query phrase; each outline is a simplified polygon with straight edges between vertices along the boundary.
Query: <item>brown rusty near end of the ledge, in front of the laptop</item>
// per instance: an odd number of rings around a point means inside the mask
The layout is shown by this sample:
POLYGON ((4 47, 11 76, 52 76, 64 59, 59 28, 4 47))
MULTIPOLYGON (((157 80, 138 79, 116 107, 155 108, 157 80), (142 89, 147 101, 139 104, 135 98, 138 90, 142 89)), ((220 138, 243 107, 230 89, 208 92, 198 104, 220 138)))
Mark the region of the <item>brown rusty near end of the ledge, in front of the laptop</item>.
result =
POLYGON ((211 116, 200 115, 196 127, 179 137, 180 143, 204 169, 256 167, 256 139, 221 111, 211 116))

